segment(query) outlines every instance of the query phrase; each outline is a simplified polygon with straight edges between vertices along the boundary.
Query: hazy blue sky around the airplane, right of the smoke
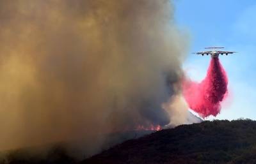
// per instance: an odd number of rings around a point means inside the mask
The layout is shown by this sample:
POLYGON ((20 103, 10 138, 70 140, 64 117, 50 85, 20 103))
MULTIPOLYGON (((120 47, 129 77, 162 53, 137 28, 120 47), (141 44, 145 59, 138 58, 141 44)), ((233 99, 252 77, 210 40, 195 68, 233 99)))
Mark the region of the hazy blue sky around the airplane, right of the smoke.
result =
MULTIPOLYGON (((220 56, 227 71, 229 97, 221 113, 207 119, 256 119, 256 1, 193 0, 174 1, 175 19, 182 30, 191 34, 190 52, 204 47, 223 46, 238 54, 220 56)), ((192 80, 206 75, 210 56, 188 54, 183 64, 192 80)))

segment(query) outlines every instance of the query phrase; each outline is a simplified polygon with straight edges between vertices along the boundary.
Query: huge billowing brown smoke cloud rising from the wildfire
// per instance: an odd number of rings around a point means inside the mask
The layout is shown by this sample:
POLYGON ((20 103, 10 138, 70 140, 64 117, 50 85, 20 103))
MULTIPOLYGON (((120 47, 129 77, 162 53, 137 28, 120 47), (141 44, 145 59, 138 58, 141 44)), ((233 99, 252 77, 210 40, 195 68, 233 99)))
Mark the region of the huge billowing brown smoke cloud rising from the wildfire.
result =
POLYGON ((0 150, 170 123, 188 42, 170 1, 2 0, 0 22, 0 150))

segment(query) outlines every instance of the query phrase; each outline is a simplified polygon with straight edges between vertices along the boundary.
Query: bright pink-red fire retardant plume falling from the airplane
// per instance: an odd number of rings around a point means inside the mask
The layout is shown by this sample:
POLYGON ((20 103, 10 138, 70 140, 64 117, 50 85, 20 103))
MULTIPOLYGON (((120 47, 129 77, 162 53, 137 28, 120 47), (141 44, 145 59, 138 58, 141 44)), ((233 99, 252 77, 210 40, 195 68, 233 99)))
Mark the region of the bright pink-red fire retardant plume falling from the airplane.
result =
POLYGON ((182 83, 184 98, 189 108, 200 117, 220 114, 220 102, 227 96, 228 78, 219 58, 212 58, 207 75, 202 82, 184 80, 182 83))

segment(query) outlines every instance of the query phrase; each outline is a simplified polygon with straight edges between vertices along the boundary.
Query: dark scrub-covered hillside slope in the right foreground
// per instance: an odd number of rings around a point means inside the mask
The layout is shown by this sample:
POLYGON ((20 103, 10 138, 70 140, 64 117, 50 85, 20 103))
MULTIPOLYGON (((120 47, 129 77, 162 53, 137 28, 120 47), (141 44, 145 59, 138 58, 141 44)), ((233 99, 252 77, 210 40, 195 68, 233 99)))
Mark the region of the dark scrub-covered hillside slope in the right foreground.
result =
POLYGON ((204 121, 128 140, 82 163, 256 163, 256 121, 204 121))

